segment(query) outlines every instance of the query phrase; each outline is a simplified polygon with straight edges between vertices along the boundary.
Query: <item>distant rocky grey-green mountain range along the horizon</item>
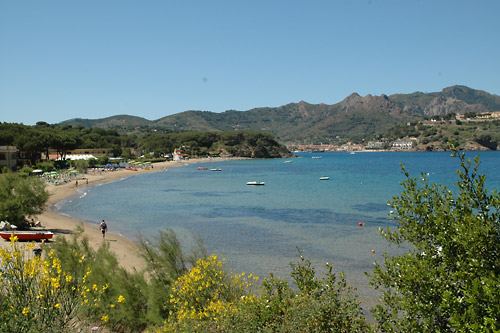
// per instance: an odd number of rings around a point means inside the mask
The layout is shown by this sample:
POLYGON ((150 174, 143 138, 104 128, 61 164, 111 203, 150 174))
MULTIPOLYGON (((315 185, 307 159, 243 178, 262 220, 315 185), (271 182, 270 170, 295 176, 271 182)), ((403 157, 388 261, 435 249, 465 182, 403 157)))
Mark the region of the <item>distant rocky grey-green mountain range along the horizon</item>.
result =
POLYGON ((332 105, 301 101, 248 111, 185 111, 157 120, 117 115, 77 118, 60 124, 113 128, 120 132, 250 130, 270 133, 283 143, 317 143, 370 138, 424 117, 494 111, 500 111, 500 96, 456 85, 431 93, 364 97, 352 93, 332 105))

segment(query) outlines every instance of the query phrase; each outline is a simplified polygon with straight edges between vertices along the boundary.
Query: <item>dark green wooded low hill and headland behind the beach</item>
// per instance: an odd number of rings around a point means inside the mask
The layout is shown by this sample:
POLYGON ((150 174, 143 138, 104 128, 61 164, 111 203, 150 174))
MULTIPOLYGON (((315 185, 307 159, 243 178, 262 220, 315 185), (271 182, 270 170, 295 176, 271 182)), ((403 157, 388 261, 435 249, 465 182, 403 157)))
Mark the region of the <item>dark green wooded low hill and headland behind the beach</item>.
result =
POLYGON ((0 123, 0 145, 16 146, 32 164, 49 150, 64 156, 76 148, 111 148, 114 156, 152 154, 157 157, 180 148, 191 156, 232 155, 252 158, 288 157, 290 152, 272 135, 250 131, 123 134, 115 129, 71 125, 36 126, 0 123))

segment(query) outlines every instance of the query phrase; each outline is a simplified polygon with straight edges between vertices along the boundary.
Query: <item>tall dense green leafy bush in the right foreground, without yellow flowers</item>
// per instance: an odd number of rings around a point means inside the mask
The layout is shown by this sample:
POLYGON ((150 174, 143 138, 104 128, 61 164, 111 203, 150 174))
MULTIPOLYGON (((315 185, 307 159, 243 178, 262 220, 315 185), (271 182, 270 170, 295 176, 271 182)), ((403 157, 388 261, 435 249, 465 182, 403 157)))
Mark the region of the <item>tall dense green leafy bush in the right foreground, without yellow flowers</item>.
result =
POLYGON ((377 263, 372 283, 383 292, 373 309, 383 331, 500 329, 500 195, 488 193, 479 159, 455 152, 461 170, 456 191, 429 184, 426 175, 402 183, 394 197, 395 231, 382 235, 409 244, 404 255, 377 263))

